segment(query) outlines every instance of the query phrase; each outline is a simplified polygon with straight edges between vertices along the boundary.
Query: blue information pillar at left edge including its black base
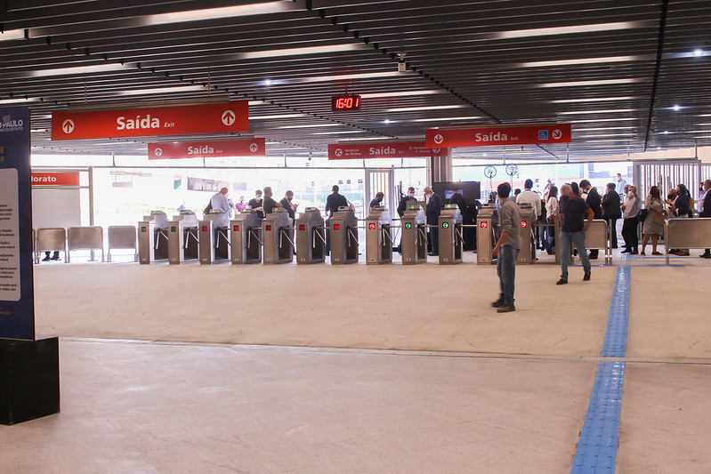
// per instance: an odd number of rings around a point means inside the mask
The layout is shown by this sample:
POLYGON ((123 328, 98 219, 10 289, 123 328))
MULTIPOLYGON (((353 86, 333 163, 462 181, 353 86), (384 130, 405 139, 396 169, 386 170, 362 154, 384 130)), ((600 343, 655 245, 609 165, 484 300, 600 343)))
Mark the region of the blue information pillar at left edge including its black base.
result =
POLYGON ((0 108, 0 423, 60 411, 59 341, 35 338, 29 109, 0 108))

